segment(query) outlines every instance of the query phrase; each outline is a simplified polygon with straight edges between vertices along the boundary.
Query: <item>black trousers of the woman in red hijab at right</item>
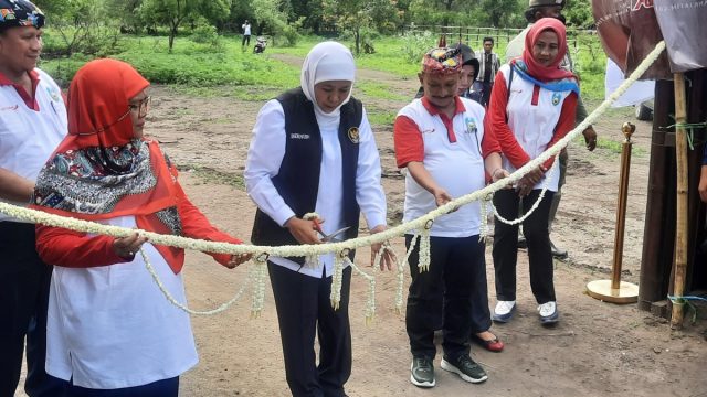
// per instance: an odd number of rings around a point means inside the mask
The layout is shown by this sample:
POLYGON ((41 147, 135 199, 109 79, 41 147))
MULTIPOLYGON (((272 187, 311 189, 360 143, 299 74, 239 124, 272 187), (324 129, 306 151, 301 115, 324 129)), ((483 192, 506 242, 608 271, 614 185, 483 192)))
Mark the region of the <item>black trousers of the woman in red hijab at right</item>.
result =
MULTIPOLYGON (((548 213, 553 192, 547 191, 538 208, 523 222, 523 233, 528 244, 528 261, 530 267, 530 288, 538 303, 555 301, 555 283, 552 281, 552 255, 550 253, 550 234, 548 232, 548 213)), ((500 216, 515 219, 538 200, 540 190, 534 190, 520 200, 515 190, 502 190, 494 194, 494 205, 500 216), (518 207, 521 207, 518 211, 518 207)), ((494 269, 496 272, 496 298, 498 300, 516 300, 516 264, 518 261, 518 225, 506 225, 500 221, 494 223, 494 269)))

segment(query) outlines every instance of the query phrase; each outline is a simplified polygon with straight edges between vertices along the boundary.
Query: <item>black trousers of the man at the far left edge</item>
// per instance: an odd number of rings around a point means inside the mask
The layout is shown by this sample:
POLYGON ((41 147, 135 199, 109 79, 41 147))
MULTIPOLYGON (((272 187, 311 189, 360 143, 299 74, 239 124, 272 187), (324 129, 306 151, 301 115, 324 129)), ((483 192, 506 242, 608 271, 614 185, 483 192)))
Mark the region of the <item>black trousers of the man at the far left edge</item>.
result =
POLYGON ((52 267, 34 243, 33 224, 0 222, 0 397, 12 397, 18 387, 25 337, 27 394, 53 397, 63 387, 44 372, 52 267))

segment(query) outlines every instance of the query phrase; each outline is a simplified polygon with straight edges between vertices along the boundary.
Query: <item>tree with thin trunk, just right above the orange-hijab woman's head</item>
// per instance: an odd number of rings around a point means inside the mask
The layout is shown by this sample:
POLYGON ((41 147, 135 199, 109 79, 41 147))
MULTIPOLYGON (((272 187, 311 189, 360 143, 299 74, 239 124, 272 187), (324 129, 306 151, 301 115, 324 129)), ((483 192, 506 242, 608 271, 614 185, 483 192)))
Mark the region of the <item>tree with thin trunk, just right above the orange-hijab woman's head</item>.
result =
POLYGON ((144 0, 139 12, 146 22, 169 28, 169 52, 172 52, 179 26, 190 18, 207 20, 229 15, 226 0, 144 0))

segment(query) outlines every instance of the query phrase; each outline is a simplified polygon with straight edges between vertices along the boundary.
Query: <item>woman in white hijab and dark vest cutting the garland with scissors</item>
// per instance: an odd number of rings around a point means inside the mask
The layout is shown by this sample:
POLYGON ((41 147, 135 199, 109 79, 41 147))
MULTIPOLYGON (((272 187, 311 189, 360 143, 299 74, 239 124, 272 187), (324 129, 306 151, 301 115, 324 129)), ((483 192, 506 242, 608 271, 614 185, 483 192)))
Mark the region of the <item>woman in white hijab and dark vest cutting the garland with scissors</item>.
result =
MULTIPOLYGON (((386 229, 378 148, 366 110, 351 97, 355 76, 348 49, 336 42, 317 44, 303 64, 300 87, 268 101, 257 115, 244 173, 247 193, 258 207, 254 244, 320 244, 329 235, 334 236, 327 239, 354 238, 361 212, 370 233, 386 229), (303 219, 312 212, 319 221, 303 219)), ((373 246, 372 254, 378 249, 373 246)), ((392 258, 383 259, 381 269, 390 269, 392 258)), ((351 269, 344 270, 341 300, 334 310, 333 265, 333 254, 314 264, 304 257, 268 258, 293 396, 346 395, 344 384, 351 373, 351 269)))

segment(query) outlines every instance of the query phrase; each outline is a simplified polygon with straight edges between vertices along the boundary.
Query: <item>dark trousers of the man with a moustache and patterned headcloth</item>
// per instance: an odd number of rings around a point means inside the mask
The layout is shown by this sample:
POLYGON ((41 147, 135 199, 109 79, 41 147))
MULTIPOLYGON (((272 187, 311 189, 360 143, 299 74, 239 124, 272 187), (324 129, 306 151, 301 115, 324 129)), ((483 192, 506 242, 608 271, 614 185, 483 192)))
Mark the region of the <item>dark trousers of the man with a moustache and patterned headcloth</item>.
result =
MULTIPOLYGON (((412 236, 407 235, 408 249, 411 240, 412 236)), ((482 279, 486 280, 484 244, 478 242, 477 235, 463 238, 430 237, 430 269, 420 272, 419 262, 420 244, 416 244, 409 259, 412 282, 405 312, 405 329, 412 356, 434 358, 434 330, 439 325, 439 311, 442 308, 444 355, 451 358, 468 355, 472 296, 482 293, 474 289, 481 285, 482 279)), ((483 293, 486 293, 485 288, 483 293)), ((488 313, 487 303, 486 312, 488 313)))

